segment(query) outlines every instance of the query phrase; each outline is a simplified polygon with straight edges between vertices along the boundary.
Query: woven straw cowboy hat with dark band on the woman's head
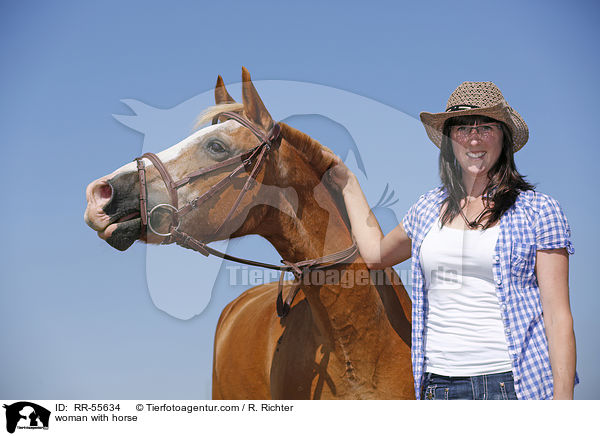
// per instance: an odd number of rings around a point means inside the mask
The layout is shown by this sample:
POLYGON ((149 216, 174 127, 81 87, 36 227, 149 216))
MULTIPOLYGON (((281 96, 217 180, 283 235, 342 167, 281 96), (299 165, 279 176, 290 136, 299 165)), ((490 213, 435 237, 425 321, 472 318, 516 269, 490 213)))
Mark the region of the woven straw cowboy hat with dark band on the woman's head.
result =
POLYGON ((506 124, 512 132, 513 152, 523 148, 529 139, 527 124, 492 82, 463 82, 450 95, 445 112, 420 114, 427 136, 438 147, 442 143, 442 129, 446 120, 466 115, 483 115, 506 124))

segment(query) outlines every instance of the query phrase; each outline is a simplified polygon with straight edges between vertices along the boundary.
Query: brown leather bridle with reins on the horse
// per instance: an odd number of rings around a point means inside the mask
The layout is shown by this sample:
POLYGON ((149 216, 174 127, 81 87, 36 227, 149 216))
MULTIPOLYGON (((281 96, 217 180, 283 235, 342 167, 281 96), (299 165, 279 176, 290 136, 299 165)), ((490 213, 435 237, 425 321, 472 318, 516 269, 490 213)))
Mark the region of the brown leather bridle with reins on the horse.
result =
POLYGON ((258 171, 262 167, 266 155, 273 149, 279 146, 281 142, 281 128, 278 123, 276 123, 271 131, 268 134, 265 134, 262 130, 257 128, 252 122, 242 117, 241 115, 235 112, 221 112, 217 116, 213 118, 213 124, 218 121, 219 117, 225 117, 228 119, 232 119, 240 123, 242 126, 248 128, 260 141, 261 143, 256 147, 239 154, 237 156, 233 156, 229 159, 226 159, 222 162, 218 162, 214 165, 201 168, 199 170, 193 171, 190 174, 186 175, 180 180, 173 180, 169 171, 160 160, 160 158, 154 153, 144 153, 142 156, 135 158, 137 162, 138 168, 138 178, 140 182, 140 218, 142 221, 141 234, 144 234, 148 229, 158 235, 164 236, 165 240, 163 244, 168 244, 171 242, 175 242, 177 245, 180 245, 185 248, 189 248, 191 250, 197 251, 204 256, 217 256, 222 259, 231 260, 233 262, 243 263, 246 265, 258 266, 262 268, 269 268, 278 270, 281 272, 279 276, 279 284, 278 284, 278 293, 277 293, 277 315, 283 317, 288 314, 292 303, 294 301, 294 297, 300 290, 300 286, 302 284, 303 278, 305 274, 307 274, 310 270, 315 269, 327 269, 332 268, 342 263, 351 262, 356 255, 358 254, 358 247, 356 243, 353 243, 350 247, 345 250, 338 251, 336 253, 329 254, 327 256, 319 257, 316 259, 308 259, 300 262, 288 262, 286 260, 282 260, 283 265, 273 265, 270 263, 257 262, 254 260, 243 259, 236 256, 231 256, 227 253, 223 253, 219 250, 215 250, 214 248, 209 247, 206 243, 201 242, 189 234, 179 230, 179 226, 181 223, 181 218, 191 212, 192 210, 198 208, 201 204, 206 202, 208 199, 213 197, 216 193, 222 191, 229 184, 232 183, 233 178, 239 174, 242 170, 245 169, 247 165, 249 165, 254 159, 256 162, 250 171, 250 174, 246 177, 246 182, 240 193, 238 194, 237 199, 233 203, 231 209, 227 213, 227 216, 216 230, 215 234, 218 234, 219 231, 223 228, 223 226, 229 221, 232 217, 233 213, 239 206, 240 202, 244 195, 253 188, 256 183, 256 175, 258 171), (148 190, 146 184, 146 167, 144 165, 144 158, 148 159, 158 170, 170 197, 170 203, 161 203, 154 206, 148 212, 148 190), (221 168, 233 165, 238 163, 238 166, 229 173, 225 178, 221 179, 219 182, 210 187, 208 191, 203 193, 202 195, 196 197, 185 206, 179 208, 177 189, 180 187, 191 183, 192 181, 198 179, 201 176, 212 173, 221 168), (153 214, 160 209, 167 209, 171 213, 171 225, 168 233, 160 233, 152 226, 152 216, 153 214), (294 274, 295 280, 292 284, 292 288, 288 293, 285 301, 283 300, 283 277, 286 272, 291 272, 294 274))

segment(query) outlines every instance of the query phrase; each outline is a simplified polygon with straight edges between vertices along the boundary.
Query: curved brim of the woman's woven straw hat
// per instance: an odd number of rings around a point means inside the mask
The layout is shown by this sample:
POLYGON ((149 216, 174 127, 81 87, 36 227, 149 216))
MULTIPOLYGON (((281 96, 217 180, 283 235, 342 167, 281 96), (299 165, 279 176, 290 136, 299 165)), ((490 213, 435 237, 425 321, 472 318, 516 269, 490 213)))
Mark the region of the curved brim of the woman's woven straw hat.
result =
POLYGON ((425 131, 429 139, 439 148, 442 144, 442 129, 446 120, 454 117, 463 117, 468 115, 482 115, 502 121, 510 129, 513 136, 513 152, 519 151, 529 139, 529 128, 517 111, 505 103, 498 103, 494 106, 465 109, 453 112, 421 112, 419 117, 425 126, 425 131))

